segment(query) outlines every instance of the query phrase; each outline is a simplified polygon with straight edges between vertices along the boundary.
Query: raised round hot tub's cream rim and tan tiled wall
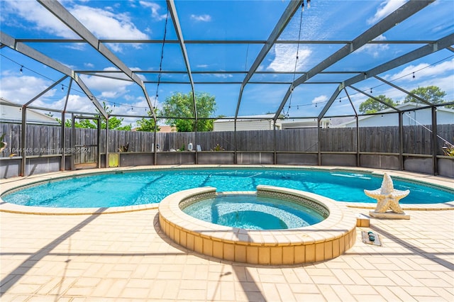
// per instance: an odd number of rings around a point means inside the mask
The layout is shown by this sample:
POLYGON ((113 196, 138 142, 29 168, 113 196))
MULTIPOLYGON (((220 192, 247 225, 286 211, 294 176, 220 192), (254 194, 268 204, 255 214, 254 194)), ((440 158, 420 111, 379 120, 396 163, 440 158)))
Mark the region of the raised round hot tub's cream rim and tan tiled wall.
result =
POLYGON ((336 201, 276 186, 257 186, 257 195, 301 203, 325 213, 326 218, 314 225, 283 230, 248 230, 208 223, 182 211, 190 203, 216 196, 216 188, 204 187, 179 191, 163 199, 159 206, 160 227, 189 250, 249 264, 319 262, 338 257, 355 244, 356 218, 336 201))

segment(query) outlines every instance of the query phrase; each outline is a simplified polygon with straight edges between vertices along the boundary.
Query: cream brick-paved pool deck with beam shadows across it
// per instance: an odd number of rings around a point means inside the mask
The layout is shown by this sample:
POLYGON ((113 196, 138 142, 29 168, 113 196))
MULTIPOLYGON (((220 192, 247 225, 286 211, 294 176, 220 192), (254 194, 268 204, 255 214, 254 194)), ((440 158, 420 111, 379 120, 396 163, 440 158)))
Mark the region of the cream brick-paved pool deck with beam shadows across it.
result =
MULTIPOLYGON (((23 180, 3 179, 1 191, 23 180)), ((339 257, 279 267, 184 249, 160 230, 157 208, 72 216, 1 211, 1 301, 454 301, 454 211, 438 211, 454 209, 453 202, 404 209, 411 220, 371 218, 370 228, 357 227, 355 245, 339 257), (363 243, 362 230, 380 235, 382 246, 363 243)))

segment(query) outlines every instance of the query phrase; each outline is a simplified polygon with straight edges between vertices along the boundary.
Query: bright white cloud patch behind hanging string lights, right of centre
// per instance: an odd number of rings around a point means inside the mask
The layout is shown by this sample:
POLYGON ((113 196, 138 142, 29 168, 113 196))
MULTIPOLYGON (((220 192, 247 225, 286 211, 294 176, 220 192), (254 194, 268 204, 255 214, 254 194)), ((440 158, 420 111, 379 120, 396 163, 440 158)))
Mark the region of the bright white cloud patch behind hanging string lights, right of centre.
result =
MULTIPOLYGON (((299 49, 297 71, 300 71, 312 51, 309 48, 299 49)), ((297 45, 277 44, 275 45, 275 59, 272 60, 267 69, 275 72, 293 72, 297 60, 297 45)))

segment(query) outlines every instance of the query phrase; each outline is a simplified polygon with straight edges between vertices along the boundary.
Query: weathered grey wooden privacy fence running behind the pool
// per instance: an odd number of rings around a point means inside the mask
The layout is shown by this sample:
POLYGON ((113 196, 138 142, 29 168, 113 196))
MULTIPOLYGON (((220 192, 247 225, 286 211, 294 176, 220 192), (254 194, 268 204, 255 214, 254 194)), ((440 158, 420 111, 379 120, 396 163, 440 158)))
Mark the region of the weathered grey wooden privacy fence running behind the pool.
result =
MULTIPOLYGON (((75 145, 96 145, 96 129, 75 129, 75 145)), ((360 152, 399 153, 399 128, 363 127, 359 128, 360 152)), ((6 133, 4 141, 8 144, 1 157, 21 156, 21 125, 1 124, 0 133, 6 133)), ((443 140, 453 143, 454 125, 438 125, 436 153, 443 155, 443 140), (443 138, 443 139, 442 139, 443 138)), ((0 134, 1 135, 1 134, 0 134)), ((189 143, 200 145, 202 151, 214 149, 220 145, 226 151, 262 151, 262 152, 358 152, 356 128, 302 128, 292 130, 249 130, 201 133, 156 133, 160 151, 187 148, 189 143), (319 138, 320 135, 320 138, 319 138)), ((403 153, 415 155, 432 154, 431 126, 411 125, 403 128, 403 153)), ((71 128, 65 128, 65 152, 69 153, 72 139, 71 128)), ((27 125, 26 155, 62 154, 61 128, 50 125, 27 125)), ((106 152, 106 130, 101 130, 100 150, 106 152)), ((128 144, 128 152, 153 152, 154 133, 109 130, 109 152, 118 152, 128 144)), ((94 151, 94 150, 93 150, 94 151)), ((84 160, 90 161, 96 152, 83 152, 84 160)))

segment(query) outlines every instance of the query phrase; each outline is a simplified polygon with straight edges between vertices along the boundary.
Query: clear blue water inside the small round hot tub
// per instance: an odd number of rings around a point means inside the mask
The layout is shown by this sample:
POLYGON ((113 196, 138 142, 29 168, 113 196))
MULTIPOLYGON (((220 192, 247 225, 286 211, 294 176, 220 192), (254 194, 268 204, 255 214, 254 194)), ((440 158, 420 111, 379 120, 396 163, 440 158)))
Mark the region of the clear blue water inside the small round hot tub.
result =
POLYGON ((248 230, 301 228, 324 219, 320 213, 299 203, 254 194, 207 198, 182 211, 208 223, 248 230))

